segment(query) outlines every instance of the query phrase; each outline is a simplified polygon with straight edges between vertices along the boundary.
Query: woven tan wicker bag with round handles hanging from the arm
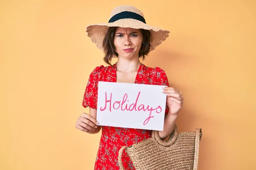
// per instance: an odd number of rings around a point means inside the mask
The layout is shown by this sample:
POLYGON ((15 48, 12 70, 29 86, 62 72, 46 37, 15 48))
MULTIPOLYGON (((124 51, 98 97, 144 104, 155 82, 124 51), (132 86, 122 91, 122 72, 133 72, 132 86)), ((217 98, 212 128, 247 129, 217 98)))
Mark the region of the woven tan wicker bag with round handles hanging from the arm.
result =
POLYGON ((201 128, 196 132, 178 133, 177 126, 167 141, 160 139, 158 131, 145 139, 119 150, 118 163, 121 170, 122 152, 125 149, 136 170, 197 170, 201 128))

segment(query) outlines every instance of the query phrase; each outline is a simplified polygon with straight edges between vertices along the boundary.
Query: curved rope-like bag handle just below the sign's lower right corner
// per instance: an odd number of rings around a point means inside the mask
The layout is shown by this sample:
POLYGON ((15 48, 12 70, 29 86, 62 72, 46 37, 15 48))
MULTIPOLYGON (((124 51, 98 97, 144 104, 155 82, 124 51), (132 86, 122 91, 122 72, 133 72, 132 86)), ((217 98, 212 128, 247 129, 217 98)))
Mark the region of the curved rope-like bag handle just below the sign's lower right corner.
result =
POLYGON ((152 138, 156 139, 156 141, 161 144, 162 146, 171 146, 174 144, 178 138, 178 128, 177 125, 175 125, 174 130, 172 134, 170 135, 169 139, 167 141, 163 141, 159 136, 158 130, 152 131, 152 138))

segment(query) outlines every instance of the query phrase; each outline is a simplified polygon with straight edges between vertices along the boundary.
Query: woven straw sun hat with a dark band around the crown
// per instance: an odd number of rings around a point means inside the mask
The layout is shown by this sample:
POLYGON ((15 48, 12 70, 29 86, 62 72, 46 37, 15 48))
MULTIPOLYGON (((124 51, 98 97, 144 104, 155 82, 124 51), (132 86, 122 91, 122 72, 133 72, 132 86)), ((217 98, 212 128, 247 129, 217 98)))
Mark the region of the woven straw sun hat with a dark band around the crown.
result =
POLYGON ((86 32, 88 33, 88 37, 90 37, 91 41, 101 50, 103 50, 102 42, 109 27, 142 28, 149 30, 152 35, 150 51, 154 50, 169 36, 169 31, 147 25, 143 13, 134 6, 128 5, 114 8, 108 23, 91 24, 87 26, 86 32))

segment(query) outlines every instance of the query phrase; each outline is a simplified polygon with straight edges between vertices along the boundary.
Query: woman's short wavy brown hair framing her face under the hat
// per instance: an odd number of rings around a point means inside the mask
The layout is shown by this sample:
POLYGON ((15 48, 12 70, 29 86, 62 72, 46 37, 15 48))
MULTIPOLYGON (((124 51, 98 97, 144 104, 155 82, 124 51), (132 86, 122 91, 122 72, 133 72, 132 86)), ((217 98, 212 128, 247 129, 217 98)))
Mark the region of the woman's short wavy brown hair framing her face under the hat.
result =
MULTIPOLYGON (((105 35, 105 38, 103 40, 102 46, 105 53, 104 61, 108 65, 111 65, 111 60, 113 57, 118 57, 118 54, 116 53, 116 47, 114 45, 114 34, 117 27, 109 27, 108 32, 105 35)), ((150 44, 152 41, 152 36, 150 31, 145 29, 140 29, 142 32, 143 40, 142 45, 139 51, 139 58, 142 57, 142 59, 145 59, 145 55, 148 55, 150 50, 150 44)), ((112 65, 111 65, 112 66, 112 65)))

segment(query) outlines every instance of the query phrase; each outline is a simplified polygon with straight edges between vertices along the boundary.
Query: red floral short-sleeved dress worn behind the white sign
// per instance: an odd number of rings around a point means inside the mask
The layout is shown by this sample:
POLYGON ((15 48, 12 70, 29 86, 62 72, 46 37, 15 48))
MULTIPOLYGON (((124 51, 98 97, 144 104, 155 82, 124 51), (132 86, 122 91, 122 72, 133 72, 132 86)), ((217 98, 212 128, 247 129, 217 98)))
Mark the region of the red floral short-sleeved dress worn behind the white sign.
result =
MULTIPOLYGON (((113 67, 98 66, 90 74, 82 102, 84 108, 97 109, 98 81, 116 82, 116 63, 113 67)), ((143 64, 138 69, 135 83, 169 86, 163 69, 159 67, 150 68, 143 64)), ((166 113, 168 113, 168 109, 166 105, 166 113)), ((120 148, 122 146, 130 146, 150 137, 151 130, 102 126, 102 136, 94 170, 119 170, 118 152, 120 148)), ((135 170, 125 151, 122 153, 122 162, 125 170, 135 170)))

